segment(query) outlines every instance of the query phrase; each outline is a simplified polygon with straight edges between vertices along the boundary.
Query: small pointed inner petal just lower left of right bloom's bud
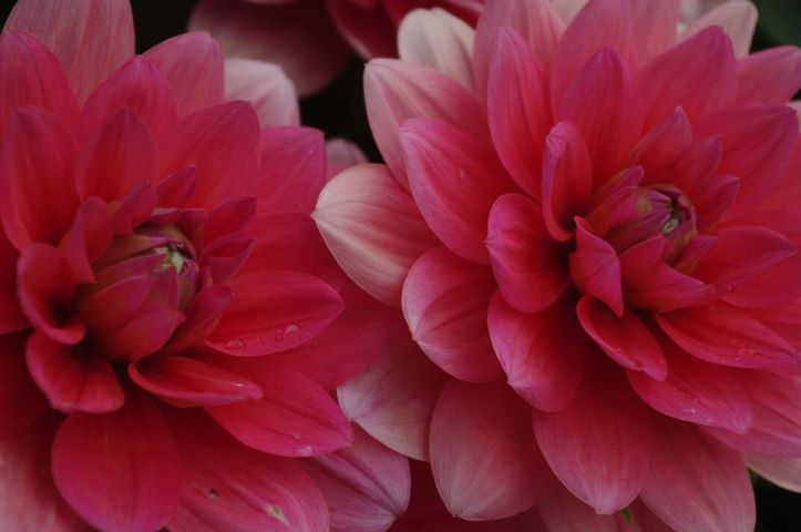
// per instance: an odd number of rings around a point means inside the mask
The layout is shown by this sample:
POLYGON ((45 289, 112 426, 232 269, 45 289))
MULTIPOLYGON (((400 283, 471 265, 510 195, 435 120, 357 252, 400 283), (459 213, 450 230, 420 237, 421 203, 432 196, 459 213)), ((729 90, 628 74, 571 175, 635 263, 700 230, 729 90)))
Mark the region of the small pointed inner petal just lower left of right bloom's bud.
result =
POLYGON ((604 301, 617 316, 623 316, 620 259, 615 249, 594 235, 581 218, 576 218, 576 250, 571 254, 571 276, 584 295, 604 301))

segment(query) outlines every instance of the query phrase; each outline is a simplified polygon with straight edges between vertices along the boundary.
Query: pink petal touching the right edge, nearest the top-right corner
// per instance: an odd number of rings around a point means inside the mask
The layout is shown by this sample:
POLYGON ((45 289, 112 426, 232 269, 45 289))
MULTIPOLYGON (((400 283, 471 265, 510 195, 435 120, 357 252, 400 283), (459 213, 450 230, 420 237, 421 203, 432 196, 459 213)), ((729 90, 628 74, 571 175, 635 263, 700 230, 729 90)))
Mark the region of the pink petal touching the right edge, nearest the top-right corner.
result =
POLYGON ((801 89, 801 50, 779 47, 737 63, 737 103, 787 103, 801 89))

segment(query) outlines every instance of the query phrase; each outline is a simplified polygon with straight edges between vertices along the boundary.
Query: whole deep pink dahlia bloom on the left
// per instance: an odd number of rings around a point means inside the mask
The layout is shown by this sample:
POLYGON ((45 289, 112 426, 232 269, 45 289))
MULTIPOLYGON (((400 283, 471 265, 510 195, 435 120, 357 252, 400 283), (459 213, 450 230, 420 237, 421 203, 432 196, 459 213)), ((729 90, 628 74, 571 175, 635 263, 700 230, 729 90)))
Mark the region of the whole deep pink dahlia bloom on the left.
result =
POLYGON ((122 0, 20 0, 0 92, 0 522, 328 530, 292 458, 353 441, 328 390, 386 313, 309 218, 291 83, 203 33, 134 55, 122 0))

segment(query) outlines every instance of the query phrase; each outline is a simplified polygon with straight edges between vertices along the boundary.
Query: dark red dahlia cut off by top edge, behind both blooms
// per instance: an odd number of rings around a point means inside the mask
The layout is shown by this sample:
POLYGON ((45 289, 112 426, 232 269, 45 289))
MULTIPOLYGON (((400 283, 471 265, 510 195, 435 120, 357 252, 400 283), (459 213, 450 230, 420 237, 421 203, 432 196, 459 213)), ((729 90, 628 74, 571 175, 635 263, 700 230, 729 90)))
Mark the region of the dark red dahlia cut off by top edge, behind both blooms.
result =
POLYGON ((339 73, 350 57, 349 49, 364 59, 397 57, 396 33, 401 20, 415 8, 439 7, 459 17, 459 30, 463 31, 475 25, 483 3, 484 0, 202 0, 192 14, 189 28, 210 32, 222 41, 228 55, 280 64, 298 93, 307 95, 339 73))

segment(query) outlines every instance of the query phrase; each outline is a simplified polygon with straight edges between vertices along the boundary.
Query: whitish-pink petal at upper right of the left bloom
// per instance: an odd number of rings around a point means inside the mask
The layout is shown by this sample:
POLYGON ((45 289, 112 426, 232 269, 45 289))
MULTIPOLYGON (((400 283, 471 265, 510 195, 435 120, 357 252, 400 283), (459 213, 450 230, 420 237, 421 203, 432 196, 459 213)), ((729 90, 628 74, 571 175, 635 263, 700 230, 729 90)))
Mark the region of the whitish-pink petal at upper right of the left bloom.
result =
POLYGON ((251 59, 226 60, 225 100, 250 102, 261 127, 300 124, 295 85, 275 64, 251 59))

